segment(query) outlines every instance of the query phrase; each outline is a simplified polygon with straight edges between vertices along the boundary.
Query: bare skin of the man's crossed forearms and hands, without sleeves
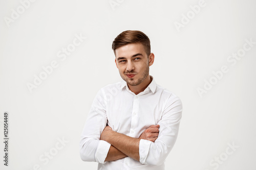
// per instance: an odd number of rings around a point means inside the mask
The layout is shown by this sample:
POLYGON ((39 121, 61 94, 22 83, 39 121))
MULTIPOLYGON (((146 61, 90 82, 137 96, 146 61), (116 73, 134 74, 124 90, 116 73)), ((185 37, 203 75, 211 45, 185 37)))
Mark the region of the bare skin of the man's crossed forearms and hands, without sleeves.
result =
POLYGON ((114 161, 117 159, 129 156, 137 161, 139 156, 140 139, 150 140, 154 142, 158 138, 159 125, 152 125, 147 128, 139 138, 126 136, 124 134, 113 131, 109 126, 106 126, 102 131, 100 140, 105 140, 111 144, 108 155, 105 161, 114 161))

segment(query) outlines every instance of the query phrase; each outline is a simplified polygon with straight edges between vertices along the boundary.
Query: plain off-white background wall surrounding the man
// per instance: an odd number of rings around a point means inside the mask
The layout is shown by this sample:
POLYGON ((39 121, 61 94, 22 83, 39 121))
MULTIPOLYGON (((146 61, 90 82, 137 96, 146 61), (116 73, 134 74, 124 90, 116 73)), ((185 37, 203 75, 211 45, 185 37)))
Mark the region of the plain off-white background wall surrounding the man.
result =
POLYGON ((166 169, 255 169, 256 44, 236 64, 227 61, 245 39, 256 42, 255 1, 205 0, 195 16, 194 0, 113 1, 118 5, 112 8, 108 0, 37 0, 25 9, 20 1, 1 0, 0 137, 7 111, 10 138, 8 167, 0 144, 1 169, 97 169, 80 159, 80 134, 97 91, 121 80, 111 45, 125 30, 151 39, 150 74, 183 103, 166 169), (174 23, 187 14, 189 23, 177 29, 174 23), (61 61, 57 53, 80 34, 87 39, 61 61), (27 84, 54 60, 58 67, 30 92, 27 84), (223 65, 228 72, 212 78, 223 65), (216 84, 200 96, 197 89, 210 79, 216 84), (60 150, 54 149, 58 138, 68 141, 60 150), (39 160, 50 151, 49 162, 39 160), (210 164, 216 157, 222 157, 218 167, 210 164))

